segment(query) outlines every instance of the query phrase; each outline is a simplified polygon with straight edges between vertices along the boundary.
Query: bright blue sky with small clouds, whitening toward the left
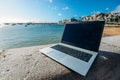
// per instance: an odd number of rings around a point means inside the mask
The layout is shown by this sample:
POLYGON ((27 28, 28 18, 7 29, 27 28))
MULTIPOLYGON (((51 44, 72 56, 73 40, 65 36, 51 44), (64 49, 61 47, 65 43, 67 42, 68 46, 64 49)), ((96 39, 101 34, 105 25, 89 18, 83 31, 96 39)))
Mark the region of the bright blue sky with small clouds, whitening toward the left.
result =
POLYGON ((120 0, 0 0, 0 22, 58 22, 120 12, 120 0))

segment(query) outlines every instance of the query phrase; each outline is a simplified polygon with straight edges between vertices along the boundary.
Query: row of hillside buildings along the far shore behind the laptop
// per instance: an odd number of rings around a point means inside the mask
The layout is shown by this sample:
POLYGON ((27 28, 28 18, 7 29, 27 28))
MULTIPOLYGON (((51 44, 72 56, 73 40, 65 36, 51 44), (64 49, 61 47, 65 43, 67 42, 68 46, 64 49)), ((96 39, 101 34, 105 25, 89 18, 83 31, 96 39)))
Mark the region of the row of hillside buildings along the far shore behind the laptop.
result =
POLYGON ((59 21, 59 24, 66 24, 71 22, 79 22, 79 21, 105 21, 106 24, 118 24, 120 25, 120 12, 118 13, 98 13, 90 16, 84 16, 79 20, 74 17, 67 20, 59 21))

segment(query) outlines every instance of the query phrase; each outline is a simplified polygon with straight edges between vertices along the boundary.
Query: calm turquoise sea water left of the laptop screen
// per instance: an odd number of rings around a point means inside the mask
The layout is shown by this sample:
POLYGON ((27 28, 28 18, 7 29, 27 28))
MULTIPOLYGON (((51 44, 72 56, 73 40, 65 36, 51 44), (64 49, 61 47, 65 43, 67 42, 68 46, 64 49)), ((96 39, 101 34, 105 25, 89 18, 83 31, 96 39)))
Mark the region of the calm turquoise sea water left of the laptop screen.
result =
POLYGON ((60 42, 64 25, 25 24, 0 27, 0 49, 19 48, 60 42))

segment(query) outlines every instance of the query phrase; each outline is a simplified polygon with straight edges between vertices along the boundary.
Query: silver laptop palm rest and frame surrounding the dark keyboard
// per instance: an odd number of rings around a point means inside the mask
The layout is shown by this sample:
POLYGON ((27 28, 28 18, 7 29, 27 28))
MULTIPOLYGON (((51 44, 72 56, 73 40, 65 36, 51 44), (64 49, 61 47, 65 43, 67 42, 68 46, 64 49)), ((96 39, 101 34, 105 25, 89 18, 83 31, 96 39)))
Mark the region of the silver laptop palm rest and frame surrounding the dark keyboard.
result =
MULTIPOLYGON (((58 44, 57 44, 58 45, 58 44)), ((53 45, 55 46, 55 45, 53 45)), ((51 46, 51 47, 53 47, 51 46)), ((92 65, 94 59, 97 56, 97 53, 92 54, 92 57, 88 62, 77 59, 73 56, 70 56, 66 53, 60 52, 58 50, 55 50, 51 47, 47 47, 44 49, 41 49, 40 52, 45 54, 46 56, 54 59, 55 61, 65 65, 66 67, 72 69, 73 71, 77 72, 78 74, 81 74, 85 76, 92 65)))

